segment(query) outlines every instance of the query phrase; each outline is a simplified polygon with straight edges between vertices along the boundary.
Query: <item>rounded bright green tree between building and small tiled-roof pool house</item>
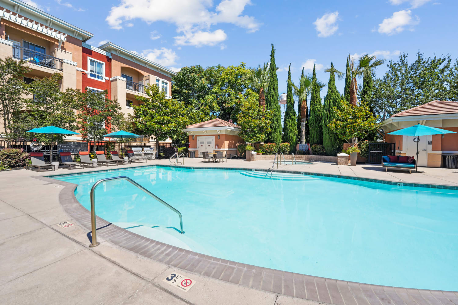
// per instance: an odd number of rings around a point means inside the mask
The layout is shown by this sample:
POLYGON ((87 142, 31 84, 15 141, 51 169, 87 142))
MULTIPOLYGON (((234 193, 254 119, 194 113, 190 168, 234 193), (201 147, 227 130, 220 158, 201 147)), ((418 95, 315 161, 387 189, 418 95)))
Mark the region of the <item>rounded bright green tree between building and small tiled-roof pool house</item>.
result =
POLYGON ((132 120, 136 133, 148 138, 153 136, 156 147, 159 147, 159 141, 169 137, 179 138, 188 122, 184 102, 165 98, 165 92, 159 91, 157 86, 146 87, 145 93, 148 97, 137 97, 144 103, 134 106, 132 120))

